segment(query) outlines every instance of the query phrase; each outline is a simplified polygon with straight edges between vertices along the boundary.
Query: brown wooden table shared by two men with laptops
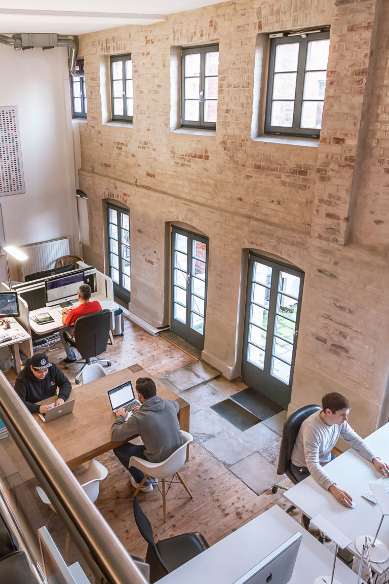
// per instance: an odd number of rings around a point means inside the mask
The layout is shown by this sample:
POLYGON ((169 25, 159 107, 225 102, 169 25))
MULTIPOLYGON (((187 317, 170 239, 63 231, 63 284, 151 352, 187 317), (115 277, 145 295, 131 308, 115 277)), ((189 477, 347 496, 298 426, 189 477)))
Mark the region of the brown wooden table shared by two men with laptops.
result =
MULTIPOLYGON (((176 399, 180 406, 178 411, 180 427, 189 432, 190 405, 188 402, 178 397, 141 366, 133 365, 91 383, 73 388, 70 396, 70 398, 76 399, 73 412, 62 416, 62 418, 46 424, 37 414, 34 414, 38 424, 70 468, 75 468, 79 464, 99 456, 99 454, 112 450, 119 444, 128 442, 128 440, 122 442, 111 440, 111 426, 115 421, 115 416, 112 413, 107 392, 129 380, 135 390, 135 381, 138 377, 152 378, 160 397, 176 399)), ((49 398, 41 403, 47 404, 52 401, 53 398, 49 398)))

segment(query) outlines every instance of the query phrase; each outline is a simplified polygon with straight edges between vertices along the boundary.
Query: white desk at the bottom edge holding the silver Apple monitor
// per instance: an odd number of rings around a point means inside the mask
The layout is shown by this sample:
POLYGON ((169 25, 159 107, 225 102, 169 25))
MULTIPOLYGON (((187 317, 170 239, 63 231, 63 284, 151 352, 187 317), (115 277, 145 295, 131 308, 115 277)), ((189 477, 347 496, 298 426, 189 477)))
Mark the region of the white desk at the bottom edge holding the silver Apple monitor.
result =
MULTIPOLYGON (((311 584, 316 576, 330 575, 334 555, 275 505, 159 582, 233 584, 296 531, 302 533, 303 538, 289 584, 311 584)), ((358 575, 339 559, 335 565, 335 578, 342 584, 358 582, 358 575)))

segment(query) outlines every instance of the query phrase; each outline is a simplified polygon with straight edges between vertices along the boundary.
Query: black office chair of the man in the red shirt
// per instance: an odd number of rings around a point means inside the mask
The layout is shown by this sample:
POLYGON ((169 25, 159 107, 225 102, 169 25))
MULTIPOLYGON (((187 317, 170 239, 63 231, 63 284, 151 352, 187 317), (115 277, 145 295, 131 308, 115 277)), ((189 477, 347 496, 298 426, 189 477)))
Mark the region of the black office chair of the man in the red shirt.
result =
MULTIPOLYGON (((74 338, 68 332, 65 332, 66 343, 68 343, 69 347, 75 347, 82 356, 82 359, 74 361, 74 363, 84 363, 76 375, 75 382, 77 384, 80 383, 79 377, 83 369, 91 363, 107 363, 107 367, 111 365, 111 361, 108 361, 108 359, 92 360, 92 357, 97 357, 97 355, 107 350, 110 327, 111 311, 99 310, 76 320, 74 338)), ((66 365, 65 369, 68 369, 66 365)))

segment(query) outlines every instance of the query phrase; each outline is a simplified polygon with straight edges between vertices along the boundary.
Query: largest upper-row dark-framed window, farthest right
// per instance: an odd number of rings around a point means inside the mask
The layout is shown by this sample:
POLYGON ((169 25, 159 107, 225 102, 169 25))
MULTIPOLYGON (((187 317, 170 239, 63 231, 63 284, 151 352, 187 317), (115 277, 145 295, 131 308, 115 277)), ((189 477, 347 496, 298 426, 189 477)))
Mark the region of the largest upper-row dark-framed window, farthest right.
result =
POLYGON ((270 39, 265 133, 320 136, 330 30, 270 39))

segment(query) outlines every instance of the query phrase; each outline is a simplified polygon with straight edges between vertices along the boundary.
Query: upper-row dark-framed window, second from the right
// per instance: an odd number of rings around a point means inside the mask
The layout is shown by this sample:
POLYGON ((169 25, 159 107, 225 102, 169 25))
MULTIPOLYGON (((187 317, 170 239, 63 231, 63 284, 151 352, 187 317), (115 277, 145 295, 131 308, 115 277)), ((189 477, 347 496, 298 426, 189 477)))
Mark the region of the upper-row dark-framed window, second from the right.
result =
POLYGON ((215 130, 219 44, 185 47, 181 64, 181 126, 215 130))

